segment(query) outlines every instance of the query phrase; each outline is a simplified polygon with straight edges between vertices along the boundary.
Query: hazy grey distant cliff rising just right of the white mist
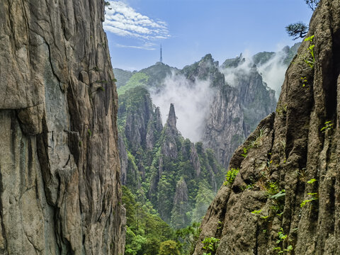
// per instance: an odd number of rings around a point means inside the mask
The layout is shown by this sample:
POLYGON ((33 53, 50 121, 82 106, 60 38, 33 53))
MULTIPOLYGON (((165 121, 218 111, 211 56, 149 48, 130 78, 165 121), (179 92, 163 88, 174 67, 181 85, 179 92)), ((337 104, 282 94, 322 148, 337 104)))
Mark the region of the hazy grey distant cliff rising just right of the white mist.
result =
POLYGON ((220 68, 208 54, 181 71, 193 84, 196 80, 210 81, 213 96, 205 116, 202 140, 205 147, 214 150, 225 168, 244 137, 276 106, 275 91, 263 82, 255 65, 237 69, 243 62, 240 56, 227 60, 220 68), (234 84, 225 81, 224 72, 232 72, 234 84))

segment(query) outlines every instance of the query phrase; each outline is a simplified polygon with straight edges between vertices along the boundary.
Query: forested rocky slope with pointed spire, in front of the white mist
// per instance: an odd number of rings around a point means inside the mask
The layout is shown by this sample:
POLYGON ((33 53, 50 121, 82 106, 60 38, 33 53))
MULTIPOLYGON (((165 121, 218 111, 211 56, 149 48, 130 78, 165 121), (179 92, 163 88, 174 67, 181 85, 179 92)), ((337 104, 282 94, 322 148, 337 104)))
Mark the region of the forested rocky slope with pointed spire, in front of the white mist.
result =
POLYGON ((147 89, 120 96, 120 161, 123 185, 149 200, 175 228, 199 221, 225 175, 211 149, 184 139, 176 128, 174 105, 164 126, 147 89))

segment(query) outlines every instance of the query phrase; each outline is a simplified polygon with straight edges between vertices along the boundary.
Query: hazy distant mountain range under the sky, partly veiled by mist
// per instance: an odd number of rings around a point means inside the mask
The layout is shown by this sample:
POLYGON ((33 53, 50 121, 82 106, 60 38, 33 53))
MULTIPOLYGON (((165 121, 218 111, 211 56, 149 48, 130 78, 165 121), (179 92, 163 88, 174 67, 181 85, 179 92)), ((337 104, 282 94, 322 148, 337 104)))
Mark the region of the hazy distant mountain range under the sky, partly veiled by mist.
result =
MULTIPOLYGON (((199 126, 191 127, 192 132, 199 130, 198 140, 202 141, 206 148, 212 148, 218 162, 227 167, 234 149, 244 141, 245 137, 249 136, 262 118, 275 111, 276 91, 271 89, 271 84, 263 81, 263 77, 268 70, 270 72, 273 65, 280 64, 283 73, 276 74, 276 76, 277 79, 283 79, 284 70, 295 56, 299 45, 300 43, 293 47, 286 46, 277 53, 259 52, 250 60, 240 55, 225 60, 222 65, 215 62, 208 54, 202 60, 183 69, 169 67, 161 62, 139 72, 114 69, 118 94, 121 96, 129 89, 143 86, 152 92, 154 99, 158 97, 162 98, 161 101, 174 103, 172 102, 174 98, 166 98, 166 94, 172 90, 172 88, 166 88, 166 81, 169 79, 184 80, 185 84, 179 87, 179 90, 184 86, 189 87, 191 90, 186 91, 188 94, 186 101, 191 101, 190 91, 195 94, 199 86, 198 81, 207 81, 210 96, 207 95, 201 102, 196 103, 198 107, 209 106, 208 109, 200 113, 187 112, 186 115, 202 115, 203 121, 197 124, 199 126)), ((166 104, 164 109, 161 108, 163 114, 169 109, 169 104, 166 104)), ((179 111, 179 107, 176 104, 175 106, 179 111)), ((181 109, 182 111, 185 112, 186 109, 181 109)), ((190 120, 183 120, 179 112, 178 116, 179 124, 181 121, 190 120)), ((179 131, 182 132, 181 128, 179 131)))

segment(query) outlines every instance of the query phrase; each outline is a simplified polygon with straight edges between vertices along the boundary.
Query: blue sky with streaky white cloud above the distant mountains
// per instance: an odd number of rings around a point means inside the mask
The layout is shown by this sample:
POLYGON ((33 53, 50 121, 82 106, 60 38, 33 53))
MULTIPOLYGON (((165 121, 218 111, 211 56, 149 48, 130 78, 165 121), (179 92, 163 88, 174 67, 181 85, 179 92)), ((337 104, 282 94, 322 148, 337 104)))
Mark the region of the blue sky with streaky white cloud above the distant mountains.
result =
POLYGON ((114 68, 140 70, 159 61, 183 68, 211 53, 220 64, 293 45, 289 23, 309 23, 304 0, 110 1, 103 23, 114 68))

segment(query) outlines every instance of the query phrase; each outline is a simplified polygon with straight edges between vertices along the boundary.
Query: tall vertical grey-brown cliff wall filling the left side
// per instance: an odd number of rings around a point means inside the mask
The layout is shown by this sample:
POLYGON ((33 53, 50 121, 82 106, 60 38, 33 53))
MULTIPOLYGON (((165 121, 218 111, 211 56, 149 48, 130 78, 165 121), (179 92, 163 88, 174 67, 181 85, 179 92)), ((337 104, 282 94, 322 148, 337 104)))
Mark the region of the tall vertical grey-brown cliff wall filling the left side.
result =
POLYGON ((123 254, 103 4, 0 2, 0 254, 123 254))

